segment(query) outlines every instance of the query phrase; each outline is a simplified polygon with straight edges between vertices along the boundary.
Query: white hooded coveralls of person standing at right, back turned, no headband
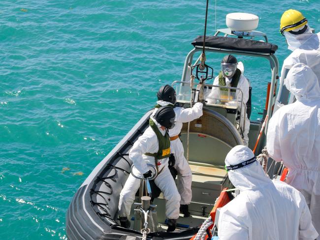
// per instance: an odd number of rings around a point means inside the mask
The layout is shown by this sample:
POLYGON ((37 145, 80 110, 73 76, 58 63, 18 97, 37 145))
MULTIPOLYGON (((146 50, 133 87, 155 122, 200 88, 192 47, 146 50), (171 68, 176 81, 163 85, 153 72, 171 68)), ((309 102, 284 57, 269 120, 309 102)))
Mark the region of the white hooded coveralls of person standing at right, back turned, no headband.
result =
POLYGON ((288 168, 286 182, 298 189, 320 232, 320 86, 315 73, 295 64, 286 78, 297 101, 281 107, 269 121, 267 150, 288 168))

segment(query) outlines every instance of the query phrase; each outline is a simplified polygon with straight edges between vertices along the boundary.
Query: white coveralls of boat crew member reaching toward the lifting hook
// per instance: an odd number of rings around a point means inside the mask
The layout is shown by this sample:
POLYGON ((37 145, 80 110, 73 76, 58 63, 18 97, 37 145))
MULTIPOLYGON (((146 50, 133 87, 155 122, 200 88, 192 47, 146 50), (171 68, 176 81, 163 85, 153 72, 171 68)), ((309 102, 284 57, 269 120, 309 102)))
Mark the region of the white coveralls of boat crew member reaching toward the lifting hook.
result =
MULTIPOLYGON (((170 102, 163 100, 157 101, 161 106, 172 105, 170 102)), ((182 129, 183 122, 189 122, 195 119, 198 119, 202 116, 202 106, 203 104, 197 102, 192 108, 182 108, 175 107, 173 110, 176 114, 175 126, 172 129, 169 129, 169 136, 174 137, 180 134, 182 129)), ((153 115, 157 112, 158 108, 155 108, 153 115)), ((181 205, 189 205, 192 199, 191 183, 192 183, 192 172, 187 162, 187 159, 184 156, 184 149, 181 143, 180 138, 170 141, 171 153, 175 157, 174 168, 178 172, 178 191, 181 196, 181 205)))

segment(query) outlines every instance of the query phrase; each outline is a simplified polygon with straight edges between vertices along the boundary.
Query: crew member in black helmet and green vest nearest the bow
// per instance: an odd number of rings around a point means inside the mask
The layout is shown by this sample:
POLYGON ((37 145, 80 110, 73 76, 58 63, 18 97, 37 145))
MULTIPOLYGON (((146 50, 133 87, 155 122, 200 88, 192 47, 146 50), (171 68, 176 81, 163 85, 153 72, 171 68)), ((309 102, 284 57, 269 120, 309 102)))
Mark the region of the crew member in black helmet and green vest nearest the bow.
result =
MULTIPOLYGON (((129 158, 133 162, 133 173, 137 177, 150 178, 152 176, 147 163, 157 168, 158 176, 154 181, 163 192, 166 200, 167 232, 172 232, 176 227, 176 219, 179 218, 180 195, 168 169, 170 138, 167 129, 174 126, 175 113, 171 107, 160 107, 154 117, 151 116, 151 120, 150 126, 130 149, 129 158)), ((128 228, 130 226, 128 216, 139 186, 140 180, 130 174, 120 193, 118 209, 120 224, 123 227, 128 228)))

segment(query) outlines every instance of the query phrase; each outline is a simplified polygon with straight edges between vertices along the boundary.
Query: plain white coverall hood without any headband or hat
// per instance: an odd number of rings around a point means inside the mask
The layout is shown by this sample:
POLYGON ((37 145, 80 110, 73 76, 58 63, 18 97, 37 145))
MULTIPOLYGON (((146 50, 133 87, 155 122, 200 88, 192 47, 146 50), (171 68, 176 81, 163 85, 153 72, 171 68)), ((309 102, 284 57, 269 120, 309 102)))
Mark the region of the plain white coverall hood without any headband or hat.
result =
POLYGON ((285 84, 300 102, 320 98, 319 80, 312 69, 304 63, 293 65, 288 72, 285 84))

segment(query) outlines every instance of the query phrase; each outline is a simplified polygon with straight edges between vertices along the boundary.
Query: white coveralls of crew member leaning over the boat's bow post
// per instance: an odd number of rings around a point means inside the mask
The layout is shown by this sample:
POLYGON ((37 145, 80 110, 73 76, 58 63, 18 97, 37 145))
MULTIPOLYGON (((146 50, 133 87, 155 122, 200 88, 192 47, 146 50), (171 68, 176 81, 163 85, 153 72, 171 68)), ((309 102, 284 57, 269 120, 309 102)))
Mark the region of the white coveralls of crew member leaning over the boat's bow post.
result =
MULTIPOLYGON (((151 119, 159 127, 160 132, 165 134, 165 130, 160 128, 160 124, 151 117, 151 119)), ((149 126, 145 132, 138 138, 138 140, 133 144, 131 150, 129 151, 129 158, 132 160, 134 168, 134 175, 142 177, 142 174, 149 171, 147 163, 155 166, 155 158, 153 156, 147 156, 146 152, 158 152, 159 142, 156 133, 149 126)), ((159 159, 158 166, 159 172, 163 169, 158 177, 155 179, 156 185, 160 188, 163 196, 166 200, 165 204, 165 214, 168 219, 178 219, 179 218, 179 208, 180 208, 180 195, 177 186, 171 176, 168 169, 168 158, 159 159)), ((130 208, 133 204, 136 191, 139 189, 140 180, 129 175, 128 180, 124 188, 120 193, 119 200, 119 215, 121 217, 130 215, 130 208)))

